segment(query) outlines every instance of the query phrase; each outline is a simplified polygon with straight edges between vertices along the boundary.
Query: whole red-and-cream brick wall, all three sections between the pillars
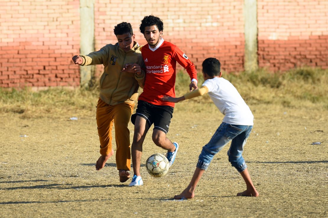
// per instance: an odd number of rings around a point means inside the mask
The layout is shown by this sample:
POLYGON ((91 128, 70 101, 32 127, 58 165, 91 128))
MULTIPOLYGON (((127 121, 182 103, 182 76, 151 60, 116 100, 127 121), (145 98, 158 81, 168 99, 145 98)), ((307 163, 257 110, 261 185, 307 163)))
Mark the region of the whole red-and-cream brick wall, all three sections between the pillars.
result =
MULTIPOLYGON (((95 0, 95 50, 116 42, 114 25, 123 21, 146 44, 139 24, 153 14, 164 22, 163 38, 179 46, 197 71, 207 57, 218 58, 223 71, 243 70, 243 0, 129 2, 95 0)), ((328 68, 328 0, 257 5, 259 67, 328 68)), ((79 18, 79 0, 0 0, 0 87, 79 86, 79 66, 71 61, 79 54, 79 18)), ((102 66, 97 69, 99 75, 102 66)))

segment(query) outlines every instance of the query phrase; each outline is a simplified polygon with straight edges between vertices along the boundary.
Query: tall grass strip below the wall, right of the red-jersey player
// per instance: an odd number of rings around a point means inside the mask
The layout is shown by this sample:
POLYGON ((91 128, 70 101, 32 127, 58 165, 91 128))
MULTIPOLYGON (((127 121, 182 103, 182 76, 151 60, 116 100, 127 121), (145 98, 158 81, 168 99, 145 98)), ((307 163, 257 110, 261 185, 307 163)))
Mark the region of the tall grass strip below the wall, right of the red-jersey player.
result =
MULTIPOLYGON (((177 78, 183 78, 185 84, 178 83, 177 95, 185 91, 180 87, 189 84, 189 75, 179 72, 177 78)), ((319 68, 297 68, 283 73, 271 73, 264 69, 246 73, 222 72, 222 77, 229 80, 248 104, 281 104, 285 107, 301 107, 308 104, 328 105, 328 70, 319 68)), ((203 83, 198 75, 198 86, 203 83)), ((208 102, 207 96, 192 99, 196 102, 208 102)))

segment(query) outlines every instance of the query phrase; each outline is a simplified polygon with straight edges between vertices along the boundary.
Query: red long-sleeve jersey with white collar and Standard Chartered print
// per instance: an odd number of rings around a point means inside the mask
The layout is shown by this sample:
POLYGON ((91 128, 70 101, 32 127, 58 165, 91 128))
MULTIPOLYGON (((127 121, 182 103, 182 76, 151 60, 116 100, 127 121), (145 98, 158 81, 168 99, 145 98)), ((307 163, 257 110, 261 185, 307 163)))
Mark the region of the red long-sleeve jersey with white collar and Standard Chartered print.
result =
POLYGON ((138 100, 154 105, 168 105, 174 107, 172 102, 161 100, 163 95, 175 97, 175 67, 176 62, 183 66, 191 79, 197 80, 197 72, 193 62, 174 44, 163 39, 153 49, 146 44, 141 49, 145 62, 145 86, 138 100))

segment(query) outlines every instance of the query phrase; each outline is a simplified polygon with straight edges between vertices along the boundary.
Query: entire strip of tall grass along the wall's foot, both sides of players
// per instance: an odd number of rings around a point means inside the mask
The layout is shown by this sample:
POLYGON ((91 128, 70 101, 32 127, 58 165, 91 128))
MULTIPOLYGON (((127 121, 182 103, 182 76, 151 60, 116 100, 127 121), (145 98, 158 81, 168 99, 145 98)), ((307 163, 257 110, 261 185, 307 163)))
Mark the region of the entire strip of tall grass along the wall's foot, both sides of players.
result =
MULTIPOLYGON (((247 104, 279 104, 289 108, 328 108, 328 70, 297 68, 283 73, 271 73, 263 69, 251 73, 226 74, 247 104)), ((198 74, 198 86, 204 82, 198 74)), ((190 77, 186 72, 176 75, 177 96, 189 92, 190 77)), ((142 92, 140 89, 139 92, 142 92)), ((94 116, 99 90, 50 88, 32 92, 30 89, 8 90, 0 88, 0 113, 18 113, 22 118, 47 116, 94 116)), ((211 104, 209 95, 191 99, 199 107, 211 104)), ((194 104, 195 105, 195 104, 194 104)), ((206 107, 207 107, 206 106, 206 107)), ((198 107, 198 106, 197 106, 198 107)))

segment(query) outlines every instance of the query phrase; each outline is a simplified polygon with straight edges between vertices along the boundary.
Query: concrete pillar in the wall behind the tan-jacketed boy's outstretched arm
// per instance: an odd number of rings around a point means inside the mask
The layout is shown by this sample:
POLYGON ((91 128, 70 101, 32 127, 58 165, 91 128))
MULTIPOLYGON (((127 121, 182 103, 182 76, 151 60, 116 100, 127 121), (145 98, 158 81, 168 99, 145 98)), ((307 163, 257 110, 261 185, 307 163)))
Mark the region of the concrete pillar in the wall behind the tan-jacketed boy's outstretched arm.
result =
MULTIPOLYGON (((80 54, 94 51, 94 0, 80 0, 80 54)), ((95 66, 80 67, 80 86, 92 86, 95 66)))

